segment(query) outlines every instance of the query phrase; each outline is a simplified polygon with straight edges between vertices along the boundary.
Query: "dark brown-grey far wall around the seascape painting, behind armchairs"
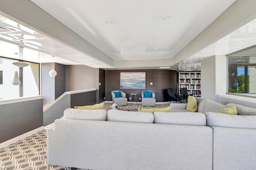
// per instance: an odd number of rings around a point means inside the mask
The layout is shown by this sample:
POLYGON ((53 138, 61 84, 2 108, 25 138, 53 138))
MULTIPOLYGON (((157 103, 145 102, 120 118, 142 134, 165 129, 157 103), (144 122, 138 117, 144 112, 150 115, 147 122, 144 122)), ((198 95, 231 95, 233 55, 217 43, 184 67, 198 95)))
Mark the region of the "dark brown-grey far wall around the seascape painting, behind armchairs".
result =
POLYGON ((120 89, 120 72, 146 72, 146 90, 156 93, 156 102, 168 101, 165 89, 177 89, 177 72, 174 70, 139 69, 139 70, 105 70, 105 96, 106 101, 112 101, 111 91, 121 90, 126 93, 129 100, 130 93, 137 93, 137 101, 141 97, 142 89, 120 89), (153 85, 150 85, 153 83, 153 85))

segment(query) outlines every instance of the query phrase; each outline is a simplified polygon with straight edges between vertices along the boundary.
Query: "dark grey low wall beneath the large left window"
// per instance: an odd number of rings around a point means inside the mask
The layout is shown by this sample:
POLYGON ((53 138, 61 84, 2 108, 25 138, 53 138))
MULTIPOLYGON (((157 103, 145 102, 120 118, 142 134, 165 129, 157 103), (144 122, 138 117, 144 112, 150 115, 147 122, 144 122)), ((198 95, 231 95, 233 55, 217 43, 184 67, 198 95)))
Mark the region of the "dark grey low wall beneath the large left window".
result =
POLYGON ((43 126, 43 99, 0 105, 0 143, 43 126))

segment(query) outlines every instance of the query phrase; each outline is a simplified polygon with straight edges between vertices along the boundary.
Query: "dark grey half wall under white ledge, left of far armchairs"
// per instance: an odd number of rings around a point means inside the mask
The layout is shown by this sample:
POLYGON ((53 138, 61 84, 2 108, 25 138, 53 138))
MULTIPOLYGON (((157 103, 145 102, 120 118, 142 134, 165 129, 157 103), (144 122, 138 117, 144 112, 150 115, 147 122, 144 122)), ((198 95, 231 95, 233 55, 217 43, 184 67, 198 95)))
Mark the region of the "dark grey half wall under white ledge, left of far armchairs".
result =
POLYGON ((86 106, 96 104, 96 91, 88 91, 84 93, 71 94, 70 106, 86 106))

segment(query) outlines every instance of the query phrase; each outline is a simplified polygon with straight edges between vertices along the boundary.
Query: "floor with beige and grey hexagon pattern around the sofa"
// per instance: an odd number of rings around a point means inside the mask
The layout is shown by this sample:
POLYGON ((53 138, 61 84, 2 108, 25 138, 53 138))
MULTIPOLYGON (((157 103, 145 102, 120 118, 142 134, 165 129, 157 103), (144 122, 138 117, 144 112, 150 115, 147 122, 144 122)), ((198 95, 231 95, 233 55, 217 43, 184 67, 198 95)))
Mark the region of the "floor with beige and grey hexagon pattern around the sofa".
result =
MULTIPOLYGON (((112 103, 104 103, 104 109, 112 109, 112 103)), ((127 104, 121 106, 120 110, 138 108, 164 108, 169 104, 160 104, 156 107, 144 107, 141 104, 127 104)), ((54 127, 50 124, 45 128, 54 127)), ((9 146, 0 148, 0 170, 47 170, 46 164, 46 129, 37 132, 27 138, 19 140, 9 146)), ((51 170, 82 170, 62 166, 52 166, 51 170)), ((84 169, 83 169, 84 170, 84 169)))

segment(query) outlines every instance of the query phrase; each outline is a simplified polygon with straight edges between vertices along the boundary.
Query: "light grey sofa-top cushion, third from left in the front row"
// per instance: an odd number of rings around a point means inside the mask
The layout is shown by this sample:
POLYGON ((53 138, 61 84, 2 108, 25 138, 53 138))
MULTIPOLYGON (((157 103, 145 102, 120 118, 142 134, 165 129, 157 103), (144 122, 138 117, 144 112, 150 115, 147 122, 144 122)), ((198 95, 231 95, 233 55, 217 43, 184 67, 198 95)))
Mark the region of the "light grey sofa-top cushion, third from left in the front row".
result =
POLYGON ((154 123, 206 126, 206 116, 198 112, 155 112, 154 123))

